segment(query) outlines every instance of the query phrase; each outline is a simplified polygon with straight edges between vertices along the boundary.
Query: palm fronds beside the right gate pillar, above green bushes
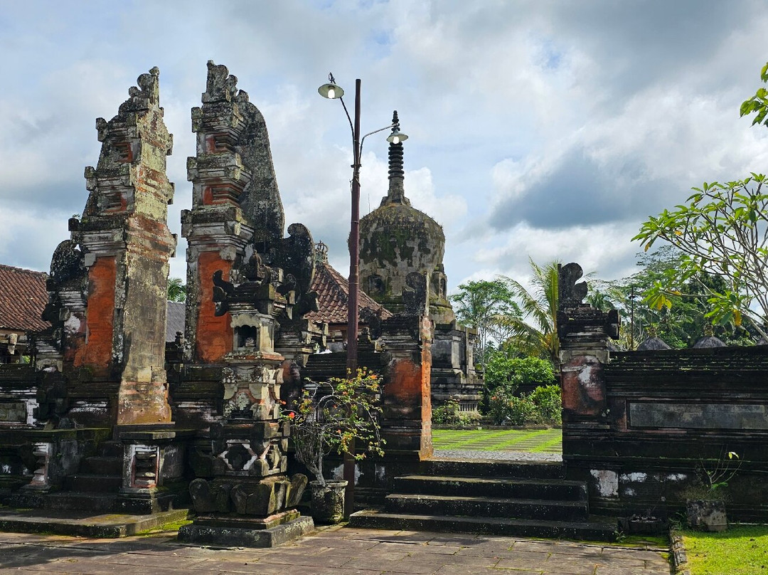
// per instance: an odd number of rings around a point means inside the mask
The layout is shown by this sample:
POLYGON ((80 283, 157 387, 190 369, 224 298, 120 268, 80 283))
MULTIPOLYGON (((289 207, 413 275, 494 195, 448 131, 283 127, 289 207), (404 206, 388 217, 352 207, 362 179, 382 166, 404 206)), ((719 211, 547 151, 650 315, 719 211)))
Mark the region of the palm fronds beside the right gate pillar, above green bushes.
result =
POLYGON ((508 329, 505 347, 513 347, 522 354, 546 357, 553 365, 560 363, 558 341, 558 265, 557 260, 538 265, 529 259, 533 276, 529 292, 511 278, 504 278, 518 300, 521 317, 498 316, 496 321, 508 329))

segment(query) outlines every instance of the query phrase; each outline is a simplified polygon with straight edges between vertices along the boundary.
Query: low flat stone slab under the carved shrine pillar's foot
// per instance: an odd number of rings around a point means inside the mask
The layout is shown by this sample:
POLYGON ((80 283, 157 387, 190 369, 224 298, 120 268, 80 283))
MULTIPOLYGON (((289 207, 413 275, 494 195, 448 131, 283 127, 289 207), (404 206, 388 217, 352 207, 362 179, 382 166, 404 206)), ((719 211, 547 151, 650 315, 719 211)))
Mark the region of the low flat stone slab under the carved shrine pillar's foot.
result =
POLYGON ((296 516, 296 510, 289 510, 264 519, 198 517, 191 525, 181 527, 178 537, 182 543, 195 545, 276 547, 315 529, 312 517, 296 516))

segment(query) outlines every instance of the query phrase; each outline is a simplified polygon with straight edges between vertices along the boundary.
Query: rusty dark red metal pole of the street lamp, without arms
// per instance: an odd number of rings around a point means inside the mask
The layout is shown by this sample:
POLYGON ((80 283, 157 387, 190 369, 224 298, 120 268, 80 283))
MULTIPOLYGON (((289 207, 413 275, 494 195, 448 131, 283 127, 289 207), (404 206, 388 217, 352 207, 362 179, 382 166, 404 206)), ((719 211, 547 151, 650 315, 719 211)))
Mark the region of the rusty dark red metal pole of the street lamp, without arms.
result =
MULTIPOLYGON (((357 327, 360 263, 360 79, 355 80, 355 127, 353 128, 352 165, 352 218, 349 226, 349 301, 346 322, 346 370, 349 377, 357 374, 357 327)), ((354 453, 353 440, 349 449, 354 453)), ((355 509, 355 460, 344 454, 344 515, 349 517, 355 509)))

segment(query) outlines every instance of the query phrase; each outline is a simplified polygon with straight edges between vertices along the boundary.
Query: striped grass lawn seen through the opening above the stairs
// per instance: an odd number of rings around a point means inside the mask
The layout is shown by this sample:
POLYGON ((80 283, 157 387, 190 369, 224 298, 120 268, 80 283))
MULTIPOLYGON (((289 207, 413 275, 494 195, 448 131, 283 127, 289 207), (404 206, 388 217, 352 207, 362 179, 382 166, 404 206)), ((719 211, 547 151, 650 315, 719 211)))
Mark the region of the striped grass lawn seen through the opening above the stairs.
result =
POLYGON ((433 429, 432 444, 435 449, 559 454, 563 437, 559 429, 433 429))

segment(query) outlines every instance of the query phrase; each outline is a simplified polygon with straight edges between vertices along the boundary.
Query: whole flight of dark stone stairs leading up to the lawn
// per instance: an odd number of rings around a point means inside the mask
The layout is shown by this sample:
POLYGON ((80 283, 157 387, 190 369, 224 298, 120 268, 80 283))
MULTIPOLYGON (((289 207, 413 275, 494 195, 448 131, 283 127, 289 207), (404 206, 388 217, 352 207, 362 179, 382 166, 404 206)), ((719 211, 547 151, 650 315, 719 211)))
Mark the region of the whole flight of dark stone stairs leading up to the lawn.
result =
POLYGON ((396 477, 380 510, 349 517, 352 527, 610 541, 615 517, 589 514, 587 486, 559 462, 427 460, 396 477))

